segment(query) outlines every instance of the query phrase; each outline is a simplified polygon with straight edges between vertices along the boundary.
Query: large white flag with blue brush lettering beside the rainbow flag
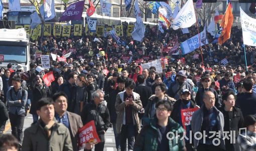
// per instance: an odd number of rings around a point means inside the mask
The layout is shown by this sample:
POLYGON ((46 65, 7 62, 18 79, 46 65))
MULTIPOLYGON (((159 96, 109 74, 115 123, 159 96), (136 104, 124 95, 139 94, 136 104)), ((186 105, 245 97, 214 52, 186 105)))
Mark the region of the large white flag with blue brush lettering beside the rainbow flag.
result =
POLYGON ((172 28, 187 28, 196 23, 193 0, 188 0, 172 21, 172 28))

